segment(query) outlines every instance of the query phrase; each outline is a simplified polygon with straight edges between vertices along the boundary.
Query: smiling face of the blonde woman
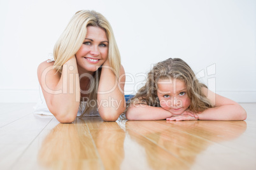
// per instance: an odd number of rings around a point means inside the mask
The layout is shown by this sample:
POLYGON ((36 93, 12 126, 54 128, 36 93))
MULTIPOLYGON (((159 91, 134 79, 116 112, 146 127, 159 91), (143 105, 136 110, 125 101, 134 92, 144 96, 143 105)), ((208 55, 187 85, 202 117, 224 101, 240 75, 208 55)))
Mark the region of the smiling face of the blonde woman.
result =
POLYGON ((82 46, 76 53, 78 72, 96 72, 108 58, 108 38, 104 29, 87 27, 82 46))

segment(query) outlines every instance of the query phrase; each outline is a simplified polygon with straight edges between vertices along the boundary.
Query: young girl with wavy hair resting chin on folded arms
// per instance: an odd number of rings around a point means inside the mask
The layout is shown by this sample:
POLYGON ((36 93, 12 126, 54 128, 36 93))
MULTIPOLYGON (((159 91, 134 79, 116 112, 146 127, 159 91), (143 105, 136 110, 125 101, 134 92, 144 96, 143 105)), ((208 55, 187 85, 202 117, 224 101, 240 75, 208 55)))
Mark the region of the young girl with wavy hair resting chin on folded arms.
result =
POLYGON ((235 101, 208 90, 183 60, 169 58, 148 73, 145 86, 127 105, 126 118, 241 121, 246 112, 235 101))

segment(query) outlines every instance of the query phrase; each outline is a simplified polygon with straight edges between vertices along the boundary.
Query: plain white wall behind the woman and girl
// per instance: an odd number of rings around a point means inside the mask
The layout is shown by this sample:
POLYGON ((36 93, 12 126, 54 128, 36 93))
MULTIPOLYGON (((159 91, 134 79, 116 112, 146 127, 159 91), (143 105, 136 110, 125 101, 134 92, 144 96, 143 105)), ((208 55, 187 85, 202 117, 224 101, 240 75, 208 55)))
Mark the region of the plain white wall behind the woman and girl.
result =
POLYGON ((127 94, 143 81, 138 73, 178 57, 196 73, 214 67, 204 82, 220 95, 256 102, 255 8, 253 0, 0 0, 0 102, 36 102, 39 63, 71 16, 87 9, 113 27, 125 71, 135 78, 127 94))

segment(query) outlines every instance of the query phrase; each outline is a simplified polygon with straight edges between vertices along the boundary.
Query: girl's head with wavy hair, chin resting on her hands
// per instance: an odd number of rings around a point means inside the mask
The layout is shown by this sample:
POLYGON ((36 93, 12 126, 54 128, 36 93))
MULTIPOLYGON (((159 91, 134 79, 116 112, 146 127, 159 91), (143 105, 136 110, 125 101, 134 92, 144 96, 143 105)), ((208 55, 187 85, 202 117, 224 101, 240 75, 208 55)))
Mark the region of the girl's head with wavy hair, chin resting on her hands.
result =
POLYGON ((203 87, 206 86, 197 80, 186 62, 169 58, 150 70, 145 86, 139 89, 129 105, 145 103, 162 107, 175 115, 187 108, 192 112, 202 112, 213 107, 203 95, 203 87))

